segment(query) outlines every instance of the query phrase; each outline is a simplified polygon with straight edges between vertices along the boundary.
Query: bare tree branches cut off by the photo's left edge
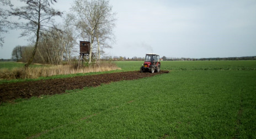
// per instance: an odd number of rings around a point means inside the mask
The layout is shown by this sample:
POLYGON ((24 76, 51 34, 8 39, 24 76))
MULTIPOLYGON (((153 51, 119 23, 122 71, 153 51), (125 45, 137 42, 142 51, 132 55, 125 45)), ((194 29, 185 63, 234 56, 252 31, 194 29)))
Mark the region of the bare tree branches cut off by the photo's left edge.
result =
POLYGON ((0 5, 2 5, 2 7, 0 7, 0 46, 3 47, 4 37, 2 34, 7 32, 7 30, 4 28, 9 25, 7 21, 8 12, 7 9, 4 9, 3 7, 12 7, 13 5, 9 0, 1 0, 0 5))

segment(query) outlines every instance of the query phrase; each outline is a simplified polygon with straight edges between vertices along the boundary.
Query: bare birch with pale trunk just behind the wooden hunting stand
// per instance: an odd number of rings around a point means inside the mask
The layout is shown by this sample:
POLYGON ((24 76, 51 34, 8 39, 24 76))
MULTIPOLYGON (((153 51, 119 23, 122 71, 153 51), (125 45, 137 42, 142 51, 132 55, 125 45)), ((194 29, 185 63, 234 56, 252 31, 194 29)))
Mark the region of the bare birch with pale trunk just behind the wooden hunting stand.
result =
MULTIPOLYGON (((83 40, 89 38, 90 53, 89 64, 92 62, 92 51, 94 38, 97 37, 98 45, 100 31, 106 29, 113 18, 112 8, 108 0, 75 0, 71 8, 73 12, 74 25, 79 30, 83 40), (98 32, 98 35, 97 35, 98 32)), ((113 20, 114 21, 114 20, 113 20)), ((100 51, 98 51, 100 52, 100 51)))

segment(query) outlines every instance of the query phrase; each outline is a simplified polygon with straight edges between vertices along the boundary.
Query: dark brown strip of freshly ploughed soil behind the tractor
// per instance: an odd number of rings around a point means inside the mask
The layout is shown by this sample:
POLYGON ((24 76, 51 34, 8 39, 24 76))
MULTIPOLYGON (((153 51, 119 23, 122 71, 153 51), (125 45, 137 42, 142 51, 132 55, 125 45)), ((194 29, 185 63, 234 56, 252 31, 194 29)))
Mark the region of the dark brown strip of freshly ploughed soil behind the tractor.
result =
POLYGON ((0 85, 0 103, 11 102, 17 98, 30 98, 47 94, 65 93, 66 90, 82 89, 84 87, 95 87, 101 84, 121 80, 135 80, 158 74, 169 73, 140 73, 139 71, 127 71, 123 73, 110 73, 88 76, 76 76, 63 79, 50 79, 28 82, 17 82, 0 85))

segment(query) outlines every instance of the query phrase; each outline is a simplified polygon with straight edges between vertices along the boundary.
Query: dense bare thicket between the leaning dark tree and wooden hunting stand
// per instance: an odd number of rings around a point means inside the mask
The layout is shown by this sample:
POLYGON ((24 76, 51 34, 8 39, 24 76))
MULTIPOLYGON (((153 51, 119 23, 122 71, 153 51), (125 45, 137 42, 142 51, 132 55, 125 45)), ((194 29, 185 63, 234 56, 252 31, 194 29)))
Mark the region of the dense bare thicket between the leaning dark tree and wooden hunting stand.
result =
POLYGON ((44 31, 39 40, 38 53, 41 61, 50 64, 62 64, 63 59, 71 62, 72 49, 75 43, 72 27, 64 21, 58 29, 44 31), (61 30, 59 30, 61 29, 61 30))

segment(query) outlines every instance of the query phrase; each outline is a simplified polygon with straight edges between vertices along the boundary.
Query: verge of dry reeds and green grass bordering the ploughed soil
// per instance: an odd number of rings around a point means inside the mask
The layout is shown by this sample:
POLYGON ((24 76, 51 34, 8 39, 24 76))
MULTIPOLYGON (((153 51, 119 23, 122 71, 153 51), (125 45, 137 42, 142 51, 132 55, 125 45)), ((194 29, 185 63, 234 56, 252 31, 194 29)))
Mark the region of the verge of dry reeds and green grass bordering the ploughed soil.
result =
MULTIPOLYGON (((16 63, 17 67, 20 63, 16 63)), ((1 64, 0 64, 1 65, 1 64)), ((23 67, 0 69, 0 84, 9 82, 29 81, 33 79, 55 79, 84 75, 86 73, 98 73, 104 71, 120 70, 114 63, 102 63, 100 66, 90 66, 77 69, 73 65, 36 66, 24 69, 23 67)))

